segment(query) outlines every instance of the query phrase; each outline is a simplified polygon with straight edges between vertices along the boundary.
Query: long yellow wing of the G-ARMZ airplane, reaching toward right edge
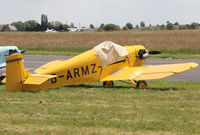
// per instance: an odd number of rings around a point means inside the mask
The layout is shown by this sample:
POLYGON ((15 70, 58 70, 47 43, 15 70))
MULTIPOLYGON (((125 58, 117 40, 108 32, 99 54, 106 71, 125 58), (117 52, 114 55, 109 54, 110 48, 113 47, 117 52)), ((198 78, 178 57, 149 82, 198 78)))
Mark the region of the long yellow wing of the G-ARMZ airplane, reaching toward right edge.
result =
POLYGON ((173 74, 177 74, 194 67, 196 63, 166 64, 156 66, 126 67, 117 72, 102 78, 100 81, 110 80, 153 80, 161 79, 173 74))

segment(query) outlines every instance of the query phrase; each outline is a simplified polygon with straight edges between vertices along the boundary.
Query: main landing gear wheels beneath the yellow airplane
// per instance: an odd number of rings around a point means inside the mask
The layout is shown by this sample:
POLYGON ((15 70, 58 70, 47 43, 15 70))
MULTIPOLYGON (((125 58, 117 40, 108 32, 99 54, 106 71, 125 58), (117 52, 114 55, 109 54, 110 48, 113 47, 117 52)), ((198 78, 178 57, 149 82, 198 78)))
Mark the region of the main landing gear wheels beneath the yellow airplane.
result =
MULTIPOLYGON (((147 87, 147 82, 144 81, 144 80, 139 80, 139 81, 130 80, 130 81, 137 88, 144 89, 144 88, 147 87)), ((124 81, 122 81, 122 82, 124 82, 124 81)), ((126 82, 126 83, 128 83, 128 82, 126 82)), ((114 87, 114 82, 113 81, 104 81, 103 82, 103 86, 104 87, 109 87, 109 88, 114 87)))

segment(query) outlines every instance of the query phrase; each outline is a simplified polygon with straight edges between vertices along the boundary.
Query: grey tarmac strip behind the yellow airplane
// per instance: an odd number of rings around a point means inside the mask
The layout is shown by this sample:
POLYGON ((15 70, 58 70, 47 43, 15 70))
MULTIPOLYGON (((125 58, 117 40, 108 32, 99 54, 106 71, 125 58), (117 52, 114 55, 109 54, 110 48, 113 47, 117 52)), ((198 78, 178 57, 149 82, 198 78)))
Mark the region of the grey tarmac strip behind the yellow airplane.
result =
MULTIPOLYGON (((35 55, 23 55, 25 69, 31 73, 38 67, 53 61, 53 60, 67 60, 71 56, 35 56, 35 55)), ((159 59, 159 58, 148 58, 144 65, 161 65, 161 64, 175 64, 195 62, 200 64, 198 59, 159 59)), ((5 73, 5 68, 1 69, 1 72, 5 73)), ((166 77, 163 80, 171 81, 199 81, 200 82, 200 66, 188 70, 179 74, 166 77)))

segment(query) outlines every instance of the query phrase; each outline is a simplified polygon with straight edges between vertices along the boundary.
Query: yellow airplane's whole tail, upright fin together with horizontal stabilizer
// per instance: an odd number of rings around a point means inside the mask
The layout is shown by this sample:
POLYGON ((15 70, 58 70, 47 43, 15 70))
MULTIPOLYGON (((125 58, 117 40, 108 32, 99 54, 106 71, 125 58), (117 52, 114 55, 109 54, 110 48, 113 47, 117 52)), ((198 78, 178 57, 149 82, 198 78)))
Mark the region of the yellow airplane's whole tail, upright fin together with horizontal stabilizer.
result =
POLYGON ((22 55, 16 53, 6 57, 6 91, 20 92, 51 88, 51 85, 41 87, 41 84, 49 79, 56 78, 56 75, 31 74, 24 69, 22 55))

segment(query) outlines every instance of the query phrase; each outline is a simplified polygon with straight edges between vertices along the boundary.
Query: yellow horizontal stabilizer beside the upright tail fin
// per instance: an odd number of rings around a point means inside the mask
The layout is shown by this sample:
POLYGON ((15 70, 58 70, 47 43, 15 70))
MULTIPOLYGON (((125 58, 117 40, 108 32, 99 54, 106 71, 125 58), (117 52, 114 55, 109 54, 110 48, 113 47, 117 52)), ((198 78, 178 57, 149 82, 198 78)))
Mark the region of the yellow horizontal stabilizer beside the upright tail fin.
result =
POLYGON ((38 74, 31 74, 27 77, 23 84, 32 84, 32 85, 40 85, 47 81, 48 79, 54 78, 56 75, 38 75, 38 74))

